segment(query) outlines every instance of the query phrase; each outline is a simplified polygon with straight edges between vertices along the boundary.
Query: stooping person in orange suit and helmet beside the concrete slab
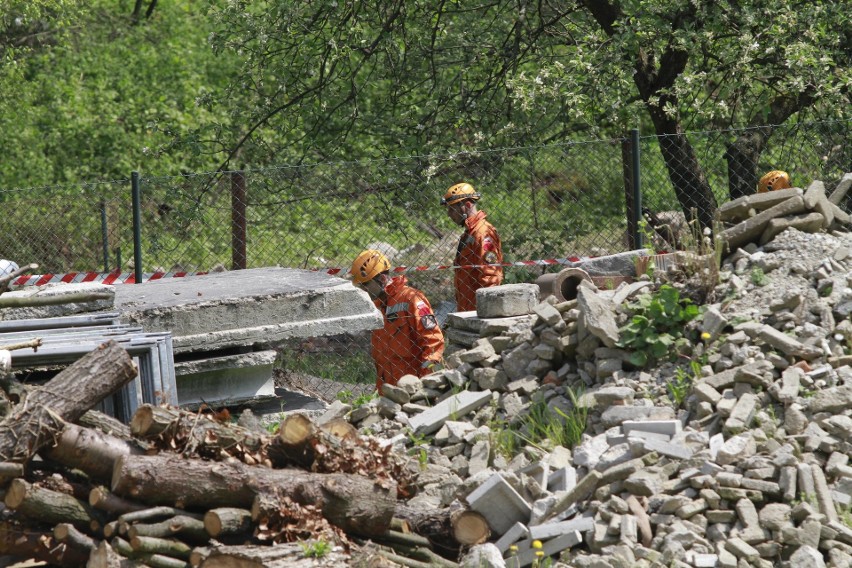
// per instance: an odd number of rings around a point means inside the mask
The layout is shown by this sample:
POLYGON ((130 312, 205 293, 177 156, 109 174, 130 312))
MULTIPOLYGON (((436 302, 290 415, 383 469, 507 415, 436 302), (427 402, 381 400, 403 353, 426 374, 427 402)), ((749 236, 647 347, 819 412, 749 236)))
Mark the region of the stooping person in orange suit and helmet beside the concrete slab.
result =
POLYGON ((395 385, 403 375, 422 377, 438 370, 444 334, 423 292, 408 286, 405 276, 391 278, 390 262, 377 250, 359 254, 351 272, 385 320, 370 340, 379 394, 382 385, 395 385))

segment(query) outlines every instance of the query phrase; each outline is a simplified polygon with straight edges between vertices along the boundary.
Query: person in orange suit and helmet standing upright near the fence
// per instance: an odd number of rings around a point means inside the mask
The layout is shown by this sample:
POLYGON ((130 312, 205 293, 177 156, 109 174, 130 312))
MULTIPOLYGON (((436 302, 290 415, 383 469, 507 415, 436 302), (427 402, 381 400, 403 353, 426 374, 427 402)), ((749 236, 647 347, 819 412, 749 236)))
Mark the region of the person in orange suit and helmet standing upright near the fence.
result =
POLYGON ((476 291, 499 286, 503 282, 503 248, 494 226, 485 220, 485 212, 477 211, 480 194, 469 183, 457 183, 447 190, 441 205, 454 223, 464 227, 456 249, 456 310, 476 309, 476 291), (486 266, 486 265, 497 266, 486 266))

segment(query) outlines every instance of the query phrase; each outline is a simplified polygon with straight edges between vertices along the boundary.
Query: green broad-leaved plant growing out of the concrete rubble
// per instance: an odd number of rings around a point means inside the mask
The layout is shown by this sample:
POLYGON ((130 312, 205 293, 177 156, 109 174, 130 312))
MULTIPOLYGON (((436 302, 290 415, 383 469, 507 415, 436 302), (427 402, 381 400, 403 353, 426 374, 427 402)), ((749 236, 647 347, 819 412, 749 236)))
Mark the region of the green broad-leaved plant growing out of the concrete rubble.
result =
POLYGON ((620 330, 618 346, 633 351, 630 362, 637 367, 687 351, 691 343, 685 335, 686 324, 701 313, 668 284, 640 295, 627 308, 632 316, 620 330))

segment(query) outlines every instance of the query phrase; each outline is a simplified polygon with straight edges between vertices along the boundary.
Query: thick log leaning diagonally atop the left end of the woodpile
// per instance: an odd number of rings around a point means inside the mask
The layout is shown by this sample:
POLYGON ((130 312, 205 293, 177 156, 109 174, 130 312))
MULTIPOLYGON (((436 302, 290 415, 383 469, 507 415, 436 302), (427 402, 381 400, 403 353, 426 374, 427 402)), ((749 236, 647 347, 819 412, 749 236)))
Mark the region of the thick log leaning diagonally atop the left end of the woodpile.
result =
POLYGON ((136 367, 127 351, 105 343, 27 394, 0 422, 0 459, 26 462, 53 440, 65 422, 76 422, 87 410, 130 382, 136 367))

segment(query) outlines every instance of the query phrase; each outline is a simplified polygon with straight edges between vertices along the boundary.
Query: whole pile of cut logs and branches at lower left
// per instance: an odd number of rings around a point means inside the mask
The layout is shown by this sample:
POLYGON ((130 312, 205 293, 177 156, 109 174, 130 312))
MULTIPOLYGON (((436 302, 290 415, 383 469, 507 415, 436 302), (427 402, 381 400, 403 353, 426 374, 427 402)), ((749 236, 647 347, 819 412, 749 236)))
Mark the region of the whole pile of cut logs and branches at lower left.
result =
POLYGON ((227 412, 146 405, 126 425, 92 410, 136 372, 112 342, 40 386, 0 367, 0 560, 456 566, 447 558, 489 536, 473 511, 407 508, 411 460, 345 421, 293 414, 268 432, 227 412))

